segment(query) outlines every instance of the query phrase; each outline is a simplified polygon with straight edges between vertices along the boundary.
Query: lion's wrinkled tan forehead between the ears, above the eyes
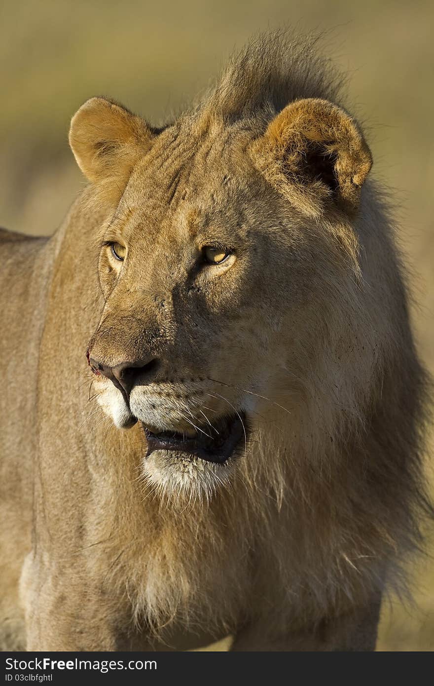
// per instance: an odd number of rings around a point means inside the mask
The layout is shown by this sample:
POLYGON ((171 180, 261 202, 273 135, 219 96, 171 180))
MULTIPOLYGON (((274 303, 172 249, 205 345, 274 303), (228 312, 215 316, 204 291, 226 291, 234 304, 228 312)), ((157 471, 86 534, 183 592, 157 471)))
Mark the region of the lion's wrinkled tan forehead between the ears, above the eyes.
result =
POLYGON ((245 147, 252 134, 232 128, 202 132, 173 126, 160 134, 136 165, 123 200, 149 222, 177 215, 196 230, 208 215, 233 215, 248 202, 253 166, 245 147))

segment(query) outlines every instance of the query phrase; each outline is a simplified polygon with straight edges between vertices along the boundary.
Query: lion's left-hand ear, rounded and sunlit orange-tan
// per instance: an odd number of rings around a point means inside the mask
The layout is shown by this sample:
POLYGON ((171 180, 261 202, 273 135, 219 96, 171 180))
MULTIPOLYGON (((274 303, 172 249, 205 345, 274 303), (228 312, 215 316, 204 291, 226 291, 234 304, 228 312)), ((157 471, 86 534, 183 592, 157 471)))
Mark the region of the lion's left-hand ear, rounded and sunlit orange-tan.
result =
POLYGON ((104 97, 87 100, 73 116, 69 130, 69 145, 88 180, 112 182, 121 192, 151 139, 143 119, 104 97))

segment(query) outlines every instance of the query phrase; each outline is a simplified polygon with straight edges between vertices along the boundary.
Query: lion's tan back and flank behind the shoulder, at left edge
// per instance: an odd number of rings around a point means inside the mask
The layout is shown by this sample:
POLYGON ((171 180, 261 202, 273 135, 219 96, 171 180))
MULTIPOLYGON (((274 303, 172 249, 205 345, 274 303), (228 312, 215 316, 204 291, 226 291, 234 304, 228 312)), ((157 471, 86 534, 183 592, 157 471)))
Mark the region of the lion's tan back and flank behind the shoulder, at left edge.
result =
POLYGON ((0 228, 2 390, 0 393, 0 648, 22 648, 16 594, 30 549, 32 471, 36 450, 38 340, 48 239, 0 228))

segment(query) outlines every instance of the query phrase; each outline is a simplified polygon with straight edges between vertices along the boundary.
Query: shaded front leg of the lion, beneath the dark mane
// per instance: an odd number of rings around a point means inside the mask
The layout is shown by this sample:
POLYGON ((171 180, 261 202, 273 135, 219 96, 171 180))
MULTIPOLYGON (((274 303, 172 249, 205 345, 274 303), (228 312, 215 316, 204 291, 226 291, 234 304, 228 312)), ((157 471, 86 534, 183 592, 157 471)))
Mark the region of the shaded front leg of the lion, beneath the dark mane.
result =
POLYGON ((317 626, 276 635, 272 626, 251 624, 237 633, 236 651, 363 651, 375 650, 381 598, 342 617, 323 619, 317 626))

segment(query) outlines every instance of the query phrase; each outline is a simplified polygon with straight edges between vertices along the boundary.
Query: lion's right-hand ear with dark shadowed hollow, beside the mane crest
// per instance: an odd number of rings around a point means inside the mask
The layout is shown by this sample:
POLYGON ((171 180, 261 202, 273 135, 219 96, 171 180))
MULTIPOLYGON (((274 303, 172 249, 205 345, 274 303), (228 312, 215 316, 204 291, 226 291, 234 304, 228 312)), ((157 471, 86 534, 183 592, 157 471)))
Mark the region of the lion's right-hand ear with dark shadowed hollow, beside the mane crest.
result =
POLYGON ((298 209, 311 216, 328 199, 353 212, 372 166, 357 121, 322 99, 292 102, 251 148, 256 167, 298 209))

